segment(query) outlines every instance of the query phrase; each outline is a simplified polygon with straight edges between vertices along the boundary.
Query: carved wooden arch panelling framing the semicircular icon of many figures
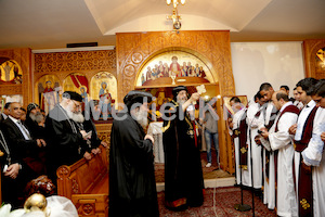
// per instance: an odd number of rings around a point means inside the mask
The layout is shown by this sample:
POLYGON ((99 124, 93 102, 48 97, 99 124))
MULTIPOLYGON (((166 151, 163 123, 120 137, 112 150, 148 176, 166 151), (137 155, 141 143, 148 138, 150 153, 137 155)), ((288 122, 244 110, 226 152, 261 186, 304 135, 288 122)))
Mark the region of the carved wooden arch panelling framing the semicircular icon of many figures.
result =
MULTIPOLYGON (((116 58, 118 78, 118 101, 135 88, 135 78, 142 65, 152 56, 172 50, 184 50, 198 55, 209 62, 219 80, 221 95, 235 94, 232 73, 230 34, 227 30, 185 30, 152 31, 152 33, 121 33, 116 35, 116 58)), ((221 107, 221 114, 223 113, 221 107)), ((222 125, 221 131, 225 130, 222 125)), ((224 133, 220 133, 220 144, 225 145, 221 153, 222 164, 230 173, 234 173, 232 144, 226 143, 224 133)))

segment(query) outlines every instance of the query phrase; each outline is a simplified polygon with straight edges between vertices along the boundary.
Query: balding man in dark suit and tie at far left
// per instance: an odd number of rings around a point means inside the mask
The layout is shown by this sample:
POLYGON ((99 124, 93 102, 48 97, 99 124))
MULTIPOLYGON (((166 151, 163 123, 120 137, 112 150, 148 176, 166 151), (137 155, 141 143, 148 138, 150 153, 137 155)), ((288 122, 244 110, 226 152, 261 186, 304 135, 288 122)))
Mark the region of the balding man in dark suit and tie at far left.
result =
POLYGON ((9 116, 2 124, 3 137, 1 137, 2 148, 6 156, 10 155, 10 157, 5 157, 4 167, 2 168, 2 194, 4 201, 11 203, 13 207, 18 207, 22 205, 20 197, 23 197, 25 186, 37 177, 26 158, 30 153, 44 146, 46 142, 42 139, 31 139, 29 131, 22 124, 21 103, 12 102, 9 111, 9 116))

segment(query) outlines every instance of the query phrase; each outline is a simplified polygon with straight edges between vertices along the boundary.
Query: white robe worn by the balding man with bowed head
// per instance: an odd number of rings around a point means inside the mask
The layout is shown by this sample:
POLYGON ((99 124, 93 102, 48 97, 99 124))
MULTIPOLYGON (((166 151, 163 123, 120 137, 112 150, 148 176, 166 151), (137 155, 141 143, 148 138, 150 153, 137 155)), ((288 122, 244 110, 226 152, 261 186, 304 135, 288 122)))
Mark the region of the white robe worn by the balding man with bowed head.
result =
MULTIPOLYGON (((281 112, 291 102, 286 103, 281 112)), ((275 120, 275 124, 280 117, 275 120)), ((275 124, 270 129, 269 140, 273 151, 277 153, 277 189, 276 189, 276 212, 278 216, 298 216, 298 204, 295 192, 292 159, 294 145, 292 137, 288 129, 297 123, 298 115, 295 113, 284 113, 277 123, 277 131, 275 132, 275 124)))

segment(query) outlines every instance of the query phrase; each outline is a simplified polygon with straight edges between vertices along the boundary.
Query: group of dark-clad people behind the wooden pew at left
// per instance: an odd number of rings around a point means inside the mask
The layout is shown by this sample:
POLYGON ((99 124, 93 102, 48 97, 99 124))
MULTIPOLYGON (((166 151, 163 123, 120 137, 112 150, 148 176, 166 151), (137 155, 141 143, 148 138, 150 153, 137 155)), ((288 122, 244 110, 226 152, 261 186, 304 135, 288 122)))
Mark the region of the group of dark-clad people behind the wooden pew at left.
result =
MULTIPOLYGON (((100 153, 101 141, 91 118, 84 118, 82 97, 66 91, 46 116, 36 103, 27 112, 20 102, 6 103, 0 115, 2 201, 22 207, 30 183, 47 180, 39 191, 55 193, 56 169, 100 153), (44 179, 43 177, 47 177, 44 179)), ((89 117, 89 115, 86 115, 89 117)))

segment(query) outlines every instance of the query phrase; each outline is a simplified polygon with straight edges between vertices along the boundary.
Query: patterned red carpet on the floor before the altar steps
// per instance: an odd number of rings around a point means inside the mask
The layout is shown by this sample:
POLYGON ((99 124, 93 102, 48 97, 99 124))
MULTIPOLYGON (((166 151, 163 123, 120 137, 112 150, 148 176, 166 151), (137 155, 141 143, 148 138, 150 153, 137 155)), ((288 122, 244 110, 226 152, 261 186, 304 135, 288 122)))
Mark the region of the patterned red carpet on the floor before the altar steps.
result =
MULTIPOLYGON (((158 193, 159 213, 160 217, 224 217, 224 216, 252 216, 252 212, 238 212, 234 208, 235 204, 240 204, 240 189, 237 187, 225 187, 217 188, 216 194, 214 189, 206 189, 205 202, 200 207, 190 207, 183 212, 172 212, 165 207, 165 192, 158 193), (213 195, 216 208, 213 208, 213 195)), ((261 199, 255 196, 255 216, 266 217, 276 216, 275 210, 270 210, 262 203, 261 199)), ((244 204, 251 206, 251 192, 244 190, 244 204)))

